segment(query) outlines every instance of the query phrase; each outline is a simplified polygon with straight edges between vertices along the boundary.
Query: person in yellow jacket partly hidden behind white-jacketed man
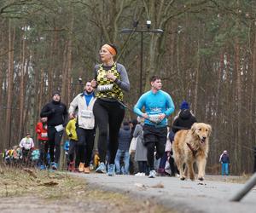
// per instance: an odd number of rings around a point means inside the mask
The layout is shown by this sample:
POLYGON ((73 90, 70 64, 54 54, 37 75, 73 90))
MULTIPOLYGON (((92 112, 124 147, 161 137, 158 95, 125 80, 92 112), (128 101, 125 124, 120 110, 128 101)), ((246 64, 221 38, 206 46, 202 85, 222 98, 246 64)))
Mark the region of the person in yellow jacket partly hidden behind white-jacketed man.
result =
POLYGON ((79 164, 79 148, 78 148, 78 135, 76 131, 77 118, 71 119, 66 126, 66 134, 69 138, 69 150, 68 150, 68 170, 74 171, 78 168, 79 164), (76 156, 76 163, 74 161, 74 155, 76 156))

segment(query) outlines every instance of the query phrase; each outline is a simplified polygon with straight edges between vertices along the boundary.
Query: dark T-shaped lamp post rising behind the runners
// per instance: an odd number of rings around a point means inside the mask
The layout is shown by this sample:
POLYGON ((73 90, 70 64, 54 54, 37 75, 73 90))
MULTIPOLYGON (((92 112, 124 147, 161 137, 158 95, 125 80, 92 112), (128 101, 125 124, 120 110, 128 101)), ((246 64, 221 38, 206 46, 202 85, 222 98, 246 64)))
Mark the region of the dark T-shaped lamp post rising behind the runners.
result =
POLYGON ((138 21, 134 22, 134 29, 124 28, 121 30, 122 33, 133 33, 140 32, 141 33, 141 61, 140 61, 140 95, 143 94, 143 33, 163 33, 164 31, 161 29, 150 29, 151 20, 147 20, 146 25, 147 29, 137 29, 138 21))

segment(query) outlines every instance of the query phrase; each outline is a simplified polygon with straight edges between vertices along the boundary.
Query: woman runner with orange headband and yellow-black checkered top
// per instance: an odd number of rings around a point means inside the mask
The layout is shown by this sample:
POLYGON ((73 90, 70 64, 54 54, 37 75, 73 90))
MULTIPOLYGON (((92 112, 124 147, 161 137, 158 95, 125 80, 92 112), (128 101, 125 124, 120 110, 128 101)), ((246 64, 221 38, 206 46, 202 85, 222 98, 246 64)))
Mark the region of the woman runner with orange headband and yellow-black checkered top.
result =
POLYGON ((106 153, 109 148, 108 176, 114 175, 114 158, 118 149, 119 128, 125 116, 123 90, 129 91, 130 83, 125 66, 115 62, 117 49, 113 44, 104 44, 100 50, 102 64, 95 66, 95 79, 91 81, 97 89, 97 100, 93 108, 96 124, 99 127, 98 151, 101 164, 98 173, 106 172, 106 153), (109 133, 109 134, 108 134, 109 133), (109 146, 107 138, 109 136, 109 146))

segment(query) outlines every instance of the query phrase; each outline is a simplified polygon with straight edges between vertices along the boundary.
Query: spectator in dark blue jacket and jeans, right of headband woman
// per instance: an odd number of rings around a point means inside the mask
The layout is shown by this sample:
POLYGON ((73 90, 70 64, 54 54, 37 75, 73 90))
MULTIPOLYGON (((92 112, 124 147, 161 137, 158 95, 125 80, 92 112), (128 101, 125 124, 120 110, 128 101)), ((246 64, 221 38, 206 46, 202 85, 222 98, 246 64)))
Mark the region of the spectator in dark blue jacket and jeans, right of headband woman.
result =
POLYGON ((120 167, 120 159, 124 158, 124 175, 128 175, 129 173, 129 161, 130 161, 130 154, 129 154, 129 147, 131 142, 131 129, 128 122, 123 123, 123 128, 119 130, 119 148, 116 153, 114 164, 117 174, 121 174, 121 167, 120 167))

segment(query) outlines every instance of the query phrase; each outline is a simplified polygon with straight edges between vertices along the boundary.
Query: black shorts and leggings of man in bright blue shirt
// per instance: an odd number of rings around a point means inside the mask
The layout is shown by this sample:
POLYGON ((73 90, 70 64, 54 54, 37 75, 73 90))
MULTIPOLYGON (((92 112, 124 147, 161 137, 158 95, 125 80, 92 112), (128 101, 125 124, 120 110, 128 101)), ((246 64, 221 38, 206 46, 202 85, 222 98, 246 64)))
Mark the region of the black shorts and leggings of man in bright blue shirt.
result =
POLYGON ((154 170, 154 147, 156 147, 156 159, 161 158, 165 153, 166 135, 166 127, 156 128, 154 125, 147 124, 143 126, 143 139, 148 150, 147 158, 149 170, 154 170))

